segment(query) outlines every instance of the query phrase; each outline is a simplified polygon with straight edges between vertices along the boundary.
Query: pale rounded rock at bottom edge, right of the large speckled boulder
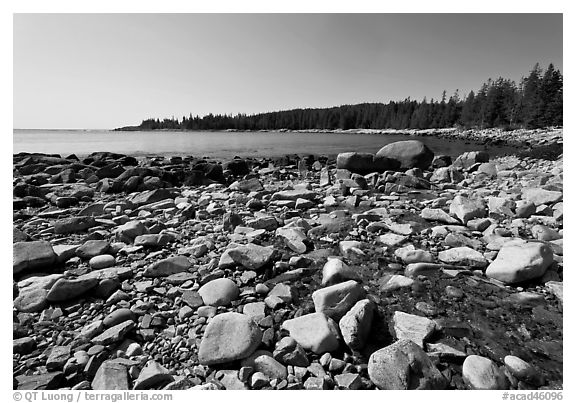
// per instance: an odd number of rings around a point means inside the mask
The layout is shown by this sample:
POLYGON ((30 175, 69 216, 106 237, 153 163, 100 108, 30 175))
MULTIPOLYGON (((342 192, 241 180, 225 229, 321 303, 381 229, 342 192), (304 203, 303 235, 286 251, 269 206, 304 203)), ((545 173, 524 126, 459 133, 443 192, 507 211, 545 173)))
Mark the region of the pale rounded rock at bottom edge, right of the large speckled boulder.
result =
POLYGON ((462 379, 471 389, 508 389, 508 380, 489 358, 469 355, 462 365, 462 379))

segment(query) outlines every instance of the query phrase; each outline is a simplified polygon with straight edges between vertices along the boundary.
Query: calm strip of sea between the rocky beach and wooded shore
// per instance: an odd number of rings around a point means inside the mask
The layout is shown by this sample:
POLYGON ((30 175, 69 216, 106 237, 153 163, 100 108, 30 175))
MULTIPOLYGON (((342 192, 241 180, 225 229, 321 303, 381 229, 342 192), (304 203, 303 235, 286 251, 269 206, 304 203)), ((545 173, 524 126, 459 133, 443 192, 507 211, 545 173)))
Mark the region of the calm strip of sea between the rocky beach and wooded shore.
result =
POLYGON ((280 133, 280 132, 113 132, 108 130, 24 130, 13 132, 13 152, 42 152, 86 156, 111 151, 134 156, 191 155, 231 158, 282 156, 286 154, 334 155, 347 151, 377 152, 386 144, 418 139, 436 155, 457 156, 465 151, 486 150, 491 156, 514 153, 511 147, 484 146, 410 135, 280 133))

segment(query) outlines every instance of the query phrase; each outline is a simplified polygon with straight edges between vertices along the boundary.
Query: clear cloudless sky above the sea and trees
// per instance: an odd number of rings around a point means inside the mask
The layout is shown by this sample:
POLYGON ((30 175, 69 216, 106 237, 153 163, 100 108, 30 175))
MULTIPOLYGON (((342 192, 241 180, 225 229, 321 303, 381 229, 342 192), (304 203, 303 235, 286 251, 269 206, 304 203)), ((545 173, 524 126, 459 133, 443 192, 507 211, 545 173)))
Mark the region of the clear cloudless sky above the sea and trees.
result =
POLYGON ((438 99, 536 63, 562 14, 15 14, 14 128, 438 99))

